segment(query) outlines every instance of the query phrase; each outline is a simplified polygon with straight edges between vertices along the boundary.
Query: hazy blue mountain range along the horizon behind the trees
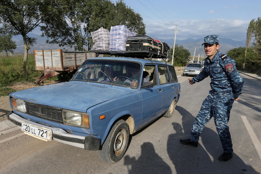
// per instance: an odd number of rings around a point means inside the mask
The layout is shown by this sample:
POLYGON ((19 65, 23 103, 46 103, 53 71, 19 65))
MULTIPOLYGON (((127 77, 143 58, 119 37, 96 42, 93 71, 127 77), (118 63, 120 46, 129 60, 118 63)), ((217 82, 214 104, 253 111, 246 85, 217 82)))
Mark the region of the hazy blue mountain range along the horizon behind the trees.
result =
MULTIPOLYGON (((31 50, 29 50, 29 53, 33 53, 33 50, 44 50, 44 49, 62 49, 61 47, 58 46, 58 44, 47 44, 46 40, 47 37, 41 37, 40 35, 29 33, 29 37, 34 37, 37 38, 36 44, 34 44, 33 47, 31 47, 31 50)), ((17 48, 14 50, 14 52, 24 52, 24 42, 23 38, 21 35, 15 36, 12 38, 13 41, 15 41, 17 48)), ((159 39, 160 40, 160 39, 159 39)), ((245 47, 246 41, 234 41, 232 39, 228 38, 220 38, 220 52, 223 54, 226 54, 229 50, 233 48, 238 48, 238 47, 245 47)), ((174 44, 174 39, 164 39, 162 40, 166 42, 170 48, 173 48, 174 44)), ((185 40, 176 40, 176 44, 179 46, 182 45, 185 49, 190 51, 190 55, 194 55, 195 48, 195 56, 198 56, 200 54, 200 57, 203 55, 206 57, 206 54, 204 52, 204 47, 201 45, 203 43, 204 39, 192 39, 192 38, 187 38, 185 40)))

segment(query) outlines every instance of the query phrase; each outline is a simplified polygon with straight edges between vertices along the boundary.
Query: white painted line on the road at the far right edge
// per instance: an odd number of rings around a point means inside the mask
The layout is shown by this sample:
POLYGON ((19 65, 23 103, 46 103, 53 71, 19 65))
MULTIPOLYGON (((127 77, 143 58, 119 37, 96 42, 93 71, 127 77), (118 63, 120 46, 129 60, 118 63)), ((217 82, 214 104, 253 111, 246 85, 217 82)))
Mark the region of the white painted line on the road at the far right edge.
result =
POLYGON ((250 138, 254 144, 254 146, 256 147, 256 151, 259 155, 259 158, 261 159, 261 143, 259 142, 254 130, 252 129, 252 127, 250 126, 248 120, 246 119, 245 116, 241 116, 245 126, 246 126, 246 130, 248 131, 250 138))

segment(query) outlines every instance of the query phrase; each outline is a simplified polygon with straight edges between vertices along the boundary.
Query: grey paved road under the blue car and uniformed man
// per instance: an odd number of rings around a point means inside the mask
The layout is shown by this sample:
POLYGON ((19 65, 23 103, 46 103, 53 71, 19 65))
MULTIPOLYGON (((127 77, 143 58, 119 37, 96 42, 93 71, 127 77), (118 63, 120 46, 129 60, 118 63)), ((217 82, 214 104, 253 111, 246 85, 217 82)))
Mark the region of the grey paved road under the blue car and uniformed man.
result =
POLYGON ((107 164, 99 159, 97 151, 44 142, 22 134, 21 130, 4 132, 11 129, 8 128, 0 132, 0 173, 261 173, 261 82, 245 74, 242 77, 243 94, 230 114, 234 155, 228 162, 218 161, 223 150, 213 119, 204 128, 197 148, 179 142, 189 137, 195 116, 210 90, 210 79, 190 86, 188 77, 180 76, 181 97, 175 116, 160 117, 135 133, 120 162, 107 164))

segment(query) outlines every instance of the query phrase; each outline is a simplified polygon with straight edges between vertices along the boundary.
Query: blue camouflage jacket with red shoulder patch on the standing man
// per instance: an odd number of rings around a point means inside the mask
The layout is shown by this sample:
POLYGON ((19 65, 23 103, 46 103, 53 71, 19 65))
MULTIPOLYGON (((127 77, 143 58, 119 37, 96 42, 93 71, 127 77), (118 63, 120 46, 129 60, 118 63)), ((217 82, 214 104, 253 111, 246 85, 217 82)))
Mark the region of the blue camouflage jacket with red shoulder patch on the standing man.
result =
POLYGON ((206 58, 203 71, 193 77, 192 82, 200 82, 208 76, 211 78, 210 86, 214 92, 232 91, 235 99, 242 94, 244 81, 236 70, 236 62, 220 51, 217 51, 211 61, 209 57, 206 58))

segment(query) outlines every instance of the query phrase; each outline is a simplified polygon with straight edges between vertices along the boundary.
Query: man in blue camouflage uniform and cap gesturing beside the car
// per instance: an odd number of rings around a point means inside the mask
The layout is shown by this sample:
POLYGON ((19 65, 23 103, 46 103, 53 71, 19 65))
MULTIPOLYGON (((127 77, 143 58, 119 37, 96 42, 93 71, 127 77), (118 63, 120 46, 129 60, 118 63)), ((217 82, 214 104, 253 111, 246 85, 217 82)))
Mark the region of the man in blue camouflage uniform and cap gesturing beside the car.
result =
POLYGON ((239 100, 239 95, 242 94, 244 82, 236 70, 235 61, 225 54, 221 54, 218 50, 219 37, 217 35, 206 36, 204 41, 204 50, 208 56, 204 62, 204 69, 196 77, 188 80, 192 85, 210 76, 212 90, 209 91, 208 97, 203 101, 197 114, 191 130, 191 138, 180 140, 180 142, 197 147, 200 133, 205 124, 213 117, 224 151, 219 156, 219 160, 227 161, 233 156, 232 141, 227 123, 234 100, 239 100))

